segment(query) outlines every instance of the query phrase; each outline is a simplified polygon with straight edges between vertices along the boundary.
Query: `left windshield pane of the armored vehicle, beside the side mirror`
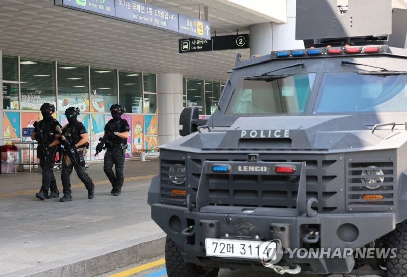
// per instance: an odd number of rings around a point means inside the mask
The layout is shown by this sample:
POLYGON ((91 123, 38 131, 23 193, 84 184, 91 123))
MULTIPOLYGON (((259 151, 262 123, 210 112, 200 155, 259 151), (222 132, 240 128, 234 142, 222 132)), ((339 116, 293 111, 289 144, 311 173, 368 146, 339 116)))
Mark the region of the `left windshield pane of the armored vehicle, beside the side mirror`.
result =
POLYGON ((226 114, 304 113, 316 73, 237 80, 226 114))

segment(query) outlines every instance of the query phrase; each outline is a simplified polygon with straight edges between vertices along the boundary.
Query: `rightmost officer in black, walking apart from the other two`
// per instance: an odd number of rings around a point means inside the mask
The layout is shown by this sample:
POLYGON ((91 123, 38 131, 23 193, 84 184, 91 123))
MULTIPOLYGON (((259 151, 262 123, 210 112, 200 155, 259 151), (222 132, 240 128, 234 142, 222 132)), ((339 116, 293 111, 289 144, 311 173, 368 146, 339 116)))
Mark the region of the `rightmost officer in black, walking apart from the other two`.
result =
POLYGON ((111 193, 113 195, 120 195, 124 180, 123 167, 130 127, 127 120, 121 118, 126 112, 124 107, 119 104, 113 104, 110 107, 110 112, 113 119, 107 122, 103 137, 107 136, 107 139, 111 143, 105 143, 106 153, 103 170, 113 186, 111 193), (113 164, 116 170, 116 175, 114 175, 112 170, 113 164))

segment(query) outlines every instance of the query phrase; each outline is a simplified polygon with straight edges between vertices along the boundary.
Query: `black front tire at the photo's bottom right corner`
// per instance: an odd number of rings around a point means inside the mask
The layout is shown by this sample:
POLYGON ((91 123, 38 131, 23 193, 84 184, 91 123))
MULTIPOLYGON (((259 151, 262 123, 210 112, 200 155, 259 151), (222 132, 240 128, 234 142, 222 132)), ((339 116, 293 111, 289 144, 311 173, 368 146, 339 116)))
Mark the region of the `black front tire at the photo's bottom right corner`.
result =
POLYGON ((387 248, 397 249, 396 257, 387 258, 387 277, 403 277, 407 276, 407 221, 403 221, 396 225, 387 238, 387 248))

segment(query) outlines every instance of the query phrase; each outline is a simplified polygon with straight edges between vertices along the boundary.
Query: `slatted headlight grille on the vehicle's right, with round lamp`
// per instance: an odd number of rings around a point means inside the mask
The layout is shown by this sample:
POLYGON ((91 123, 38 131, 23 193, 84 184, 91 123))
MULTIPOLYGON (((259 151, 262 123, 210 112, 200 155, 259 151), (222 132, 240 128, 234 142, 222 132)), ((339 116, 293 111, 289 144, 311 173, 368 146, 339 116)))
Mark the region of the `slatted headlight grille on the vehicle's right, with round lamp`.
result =
POLYGON ((390 157, 377 159, 350 158, 346 164, 348 211, 390 210, 395 196, 395 163, 390 157), (370 175, 365 174, 370 171, 370 175), (364 173, 362 173, 364 172, 364 173), (372 173, 373 172, 373 173, 372 173), (375 174, 374 172, 380 172, 375 174), (366 179, 379 180, 368 183, 366 179), (368 188, 370 186, 371 188, 368 188), (374 188, 377 186, 377 188, 374 188), (364 195, 381 196, 382 199, 363 199, 364 195))

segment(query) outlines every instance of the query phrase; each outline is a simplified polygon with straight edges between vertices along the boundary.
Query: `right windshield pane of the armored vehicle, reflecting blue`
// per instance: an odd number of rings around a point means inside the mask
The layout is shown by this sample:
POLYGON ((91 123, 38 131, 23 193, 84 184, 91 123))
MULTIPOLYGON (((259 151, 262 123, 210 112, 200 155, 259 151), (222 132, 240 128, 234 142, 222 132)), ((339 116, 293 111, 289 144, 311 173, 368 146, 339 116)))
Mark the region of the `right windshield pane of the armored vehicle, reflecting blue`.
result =
POLYGON ((325 73, 314 113, 407 112, 407 75, 325 73))

